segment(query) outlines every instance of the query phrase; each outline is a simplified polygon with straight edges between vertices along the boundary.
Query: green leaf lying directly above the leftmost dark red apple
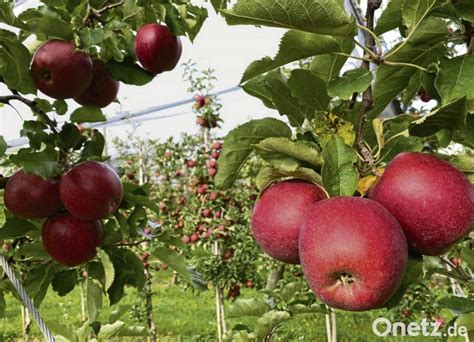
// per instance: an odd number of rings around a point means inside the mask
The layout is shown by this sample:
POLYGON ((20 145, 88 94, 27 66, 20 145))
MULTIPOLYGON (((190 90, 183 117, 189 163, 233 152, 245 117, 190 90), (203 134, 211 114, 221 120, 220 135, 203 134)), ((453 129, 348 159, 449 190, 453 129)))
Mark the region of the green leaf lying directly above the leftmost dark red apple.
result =
POLYGON ((52 147, 41 152, 22 152, 10 157, 11 161, 22 167, 27 174, 34 173, 44 179, 50 179, 61 173, 59 155, 52 147))

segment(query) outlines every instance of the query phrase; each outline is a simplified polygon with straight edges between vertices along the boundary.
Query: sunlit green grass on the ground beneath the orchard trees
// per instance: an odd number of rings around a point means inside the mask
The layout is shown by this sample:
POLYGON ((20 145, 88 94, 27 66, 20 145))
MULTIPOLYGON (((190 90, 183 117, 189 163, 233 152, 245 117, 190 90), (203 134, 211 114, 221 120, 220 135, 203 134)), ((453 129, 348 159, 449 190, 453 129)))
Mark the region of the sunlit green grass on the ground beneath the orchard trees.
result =
MULTIPOLYGON (((215 341, 214 297, 213 291, 194 294, 170 284, 171 273, 159 272, 154 283, 154 313, 160 341, 215 341)), ((244 290, 243 296, 252 295, 253 290, 244 290)), ((136 292, 128 289, 128 295, 120 304, 133 304, 136 292)), ((79 326, 81 322, 80 289, 76 288, 66 297, 57 296, 50 290, 40 311, 46 321, 58 321, 63 324, 79 326)), ((104 307, 101 317, 110 312, 104 307)), ((382 312, 338 313, 338 337, 340 341, 376 341, 371 332, 372 321, 382 312)), ((228 326, 238 323, 253 324, 253 319, 231 319, 228 326)), ((145 322, 142 322, 145 324, 145 322)), ((7 298, 7 310, 0 318, 0 341, 21 339, 21 310, 19 303, 7 298)), ((39 331, 33 323, 31 335, 39 337, 39 331)), ((326 339, 324 315, 311 314, 298 316, 291 320, 279 332, 274 341, 324 341, 326 339)), ((425 341, 427 338, 409 341, 425 341)), ((134 339, 137 341, 138 339, 134 339)), ((392 338, 392 341, 403 339, 392 338)))

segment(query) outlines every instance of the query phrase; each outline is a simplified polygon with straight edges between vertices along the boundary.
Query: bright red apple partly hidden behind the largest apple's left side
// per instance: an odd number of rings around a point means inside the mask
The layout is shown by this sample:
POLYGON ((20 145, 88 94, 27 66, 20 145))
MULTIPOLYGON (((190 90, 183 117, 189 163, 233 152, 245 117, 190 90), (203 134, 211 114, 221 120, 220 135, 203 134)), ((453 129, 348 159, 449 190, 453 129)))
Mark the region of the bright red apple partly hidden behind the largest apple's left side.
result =
POLYGON ((300 227, 311 207, 327 198, 313 183, 289 180, 266 189, 252 213, 252 231, 260 247, 272 258, 299 264, 300 227))

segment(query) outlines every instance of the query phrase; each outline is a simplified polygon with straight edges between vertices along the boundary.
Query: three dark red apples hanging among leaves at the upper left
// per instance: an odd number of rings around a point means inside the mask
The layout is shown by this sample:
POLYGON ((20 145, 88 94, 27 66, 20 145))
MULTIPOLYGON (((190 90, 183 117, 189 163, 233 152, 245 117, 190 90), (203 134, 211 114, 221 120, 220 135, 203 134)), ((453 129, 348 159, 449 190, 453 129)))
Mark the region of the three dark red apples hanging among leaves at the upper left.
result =
MULTIPOLYGON (((170 71, 181 57, 181 40, 157 23, 142 26, 135 37, 135 55, 153 75, 170 71)), ((105 63, 78 51, 74 43, 53 39, 42 44, 31 62, 38 89, 55 99, 74 99, 83 106, 104 108, 117 97, 120 84, 105 63)))

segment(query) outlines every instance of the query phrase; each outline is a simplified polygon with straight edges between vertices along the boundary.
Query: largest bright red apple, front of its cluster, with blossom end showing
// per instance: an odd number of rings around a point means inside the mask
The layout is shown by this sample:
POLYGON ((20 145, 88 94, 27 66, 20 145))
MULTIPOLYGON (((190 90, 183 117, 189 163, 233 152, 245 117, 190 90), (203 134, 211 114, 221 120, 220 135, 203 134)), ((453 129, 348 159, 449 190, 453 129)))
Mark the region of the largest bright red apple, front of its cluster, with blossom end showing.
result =
POLYGON ((300 233, 301 266, 314 294, 333 308, 380 308, 408 260, 400 224, 379 203, 335 197, 313 206, 300 233))

